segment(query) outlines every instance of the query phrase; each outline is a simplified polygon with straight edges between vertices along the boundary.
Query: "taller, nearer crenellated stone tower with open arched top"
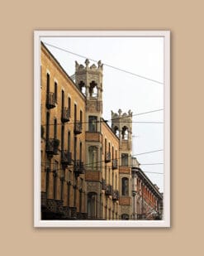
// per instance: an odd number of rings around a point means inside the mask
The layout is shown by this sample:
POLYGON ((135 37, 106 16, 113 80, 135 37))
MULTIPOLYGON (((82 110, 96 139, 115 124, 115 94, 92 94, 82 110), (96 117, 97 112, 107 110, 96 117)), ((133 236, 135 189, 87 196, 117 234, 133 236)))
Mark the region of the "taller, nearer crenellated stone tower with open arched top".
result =
POLYGON ((75 83, 86 96, 86 181, 88 218, 102 218, 102 62, 75 62, 75 83), (99 136, 99 137, 98 137, 99 136))

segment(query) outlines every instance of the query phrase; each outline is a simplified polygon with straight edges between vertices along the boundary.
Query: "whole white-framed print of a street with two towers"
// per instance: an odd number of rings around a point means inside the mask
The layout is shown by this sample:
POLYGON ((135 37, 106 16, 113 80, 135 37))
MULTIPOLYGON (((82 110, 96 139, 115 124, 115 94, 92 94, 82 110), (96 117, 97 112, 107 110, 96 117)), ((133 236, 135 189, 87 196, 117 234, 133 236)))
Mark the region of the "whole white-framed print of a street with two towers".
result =
POLYGON ((170 31, 35 31, 34 226, 170 227, 170 31))

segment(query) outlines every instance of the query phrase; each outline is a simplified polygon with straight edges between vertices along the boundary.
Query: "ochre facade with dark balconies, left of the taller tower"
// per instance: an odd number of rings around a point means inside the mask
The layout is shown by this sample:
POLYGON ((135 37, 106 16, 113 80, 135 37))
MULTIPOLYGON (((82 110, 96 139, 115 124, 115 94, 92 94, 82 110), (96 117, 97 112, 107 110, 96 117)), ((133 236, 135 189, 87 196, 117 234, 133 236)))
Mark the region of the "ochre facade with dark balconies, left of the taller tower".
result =
POLYGON ((86 219, 85 97, 41 44, 42 219, 86 219))

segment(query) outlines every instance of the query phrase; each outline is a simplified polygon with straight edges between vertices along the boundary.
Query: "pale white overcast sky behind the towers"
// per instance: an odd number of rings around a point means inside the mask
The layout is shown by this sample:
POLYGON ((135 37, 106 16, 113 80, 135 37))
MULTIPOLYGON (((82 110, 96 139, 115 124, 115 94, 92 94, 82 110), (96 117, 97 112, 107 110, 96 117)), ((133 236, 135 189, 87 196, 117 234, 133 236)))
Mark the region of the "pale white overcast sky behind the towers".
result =
MULTIPOLYGON (((134 114, 164 109, 164 38, 162 37, 41 37, 41 41, 58 46, 103 65, 103 118, 111 119, 111 110, 134 114), (135 75, 113 69, 127 70, 135 75), (150 80, 142 79, 144 76, 150 80), (157 80, 156 83, 151 80, 157 80)), ((63 66, 74 75, 75 60, 84 65, 84 58, 45 45, 63 66)), ((90 60, 90 65, 94 62, 90 60)), ((164 191, 164 111, 132 117, 133 155, 149 179, 164 191), (154 165, 148 165, 148 164, 154 165), (152 172, 152 173, 149 173, 152 172)), ((111 122, 109 123, 111 126, 111 122)))

